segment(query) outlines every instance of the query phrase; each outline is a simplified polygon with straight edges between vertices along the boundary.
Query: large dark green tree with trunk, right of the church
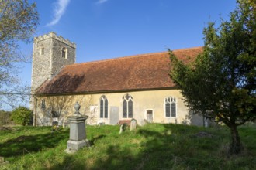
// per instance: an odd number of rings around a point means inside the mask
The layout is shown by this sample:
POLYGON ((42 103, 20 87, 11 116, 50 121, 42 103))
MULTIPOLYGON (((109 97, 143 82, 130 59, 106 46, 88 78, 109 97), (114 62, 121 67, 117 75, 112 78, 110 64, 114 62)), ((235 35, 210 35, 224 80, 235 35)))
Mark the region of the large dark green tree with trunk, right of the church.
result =
POLYGON ((170 50, 171 78, 192 113, 230 128, 230 154, 243 148, 237 126, 256 118, 255 1, 237 1, 229 21, 204 29, 203 53, 184 64, 170 50))

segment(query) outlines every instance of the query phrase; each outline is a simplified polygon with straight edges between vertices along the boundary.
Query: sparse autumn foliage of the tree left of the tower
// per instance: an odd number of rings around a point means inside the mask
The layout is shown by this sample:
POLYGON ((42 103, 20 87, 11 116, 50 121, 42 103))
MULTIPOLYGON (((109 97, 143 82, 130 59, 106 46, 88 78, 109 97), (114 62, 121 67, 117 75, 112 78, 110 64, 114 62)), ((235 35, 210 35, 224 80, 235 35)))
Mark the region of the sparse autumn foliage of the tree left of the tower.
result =
POLYGON ((0 0, 0 107, 13 106, 26 98, 29 88, 20 87, 17 63, 29 58, 19 52, 19 42, 30 42, 39 23, 36 3, 27 0, 0 0))

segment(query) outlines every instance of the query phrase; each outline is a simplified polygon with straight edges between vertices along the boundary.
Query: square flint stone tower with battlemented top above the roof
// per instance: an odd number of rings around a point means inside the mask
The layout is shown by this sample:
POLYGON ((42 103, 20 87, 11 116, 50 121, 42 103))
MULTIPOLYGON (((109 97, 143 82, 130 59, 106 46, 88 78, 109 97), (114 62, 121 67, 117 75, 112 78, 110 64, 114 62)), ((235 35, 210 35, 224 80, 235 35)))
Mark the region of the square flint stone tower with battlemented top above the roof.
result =
MULTIPOLYGON (((63 66, 75 62, 74 42, 50 32, 34 38, 31 93, 52 79, 63 66)), ((33 104, 31 104, 33 106, 33 104)))

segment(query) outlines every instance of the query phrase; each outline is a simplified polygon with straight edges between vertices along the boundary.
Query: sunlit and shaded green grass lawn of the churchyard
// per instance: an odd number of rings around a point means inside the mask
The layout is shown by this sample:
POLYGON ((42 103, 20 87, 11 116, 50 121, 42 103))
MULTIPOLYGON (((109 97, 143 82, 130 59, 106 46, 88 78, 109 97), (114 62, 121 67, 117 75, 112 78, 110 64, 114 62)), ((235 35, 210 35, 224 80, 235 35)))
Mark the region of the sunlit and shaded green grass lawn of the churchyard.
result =
MULTIPOLYGON (((15 127, 0 131, 7 169, 256 169, 256 127, 239 128, 245 147, 227 155, 230 131, 181 124, 147 124, 119 134, 119 126, 87 126, 90 148, 64 152, 69 129, 15 127), (196 135, 206 132, 208 136, 196 135)), ((1 168, 1 167, 0 167, 1 168)))

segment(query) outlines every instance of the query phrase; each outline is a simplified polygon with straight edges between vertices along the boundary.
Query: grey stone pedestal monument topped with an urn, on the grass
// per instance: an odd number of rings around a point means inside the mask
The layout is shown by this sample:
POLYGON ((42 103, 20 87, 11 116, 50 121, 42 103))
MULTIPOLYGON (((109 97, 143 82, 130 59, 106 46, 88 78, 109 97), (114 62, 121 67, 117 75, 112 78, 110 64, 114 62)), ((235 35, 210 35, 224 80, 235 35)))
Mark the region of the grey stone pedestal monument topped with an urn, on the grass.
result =
POLYGON ((85 121, 88 116, 79 113, 80 105, 78 102, 74 104, 74 109, 74 115, 67 117, 70 123, 69 140, 67 141, 67 149, 65 150, 67 153, 74 153, 79 148, 87 145, 85 121))

